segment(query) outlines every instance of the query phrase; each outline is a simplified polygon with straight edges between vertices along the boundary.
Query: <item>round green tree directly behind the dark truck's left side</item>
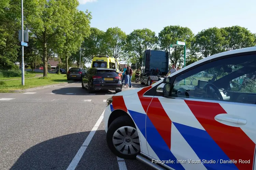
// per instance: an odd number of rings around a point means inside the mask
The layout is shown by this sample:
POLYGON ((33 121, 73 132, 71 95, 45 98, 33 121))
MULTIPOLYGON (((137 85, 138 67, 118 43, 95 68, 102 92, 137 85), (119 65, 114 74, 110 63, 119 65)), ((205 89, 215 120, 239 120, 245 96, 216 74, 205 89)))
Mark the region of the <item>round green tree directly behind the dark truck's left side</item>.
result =
POLYGON ((127 35, 126 51, 131 52, 135 57, 132 64, 138 63, 141 66, 145 50, 156 48, 156 44, 157 36, 155 32, 147 28, 134 30, 127 35))

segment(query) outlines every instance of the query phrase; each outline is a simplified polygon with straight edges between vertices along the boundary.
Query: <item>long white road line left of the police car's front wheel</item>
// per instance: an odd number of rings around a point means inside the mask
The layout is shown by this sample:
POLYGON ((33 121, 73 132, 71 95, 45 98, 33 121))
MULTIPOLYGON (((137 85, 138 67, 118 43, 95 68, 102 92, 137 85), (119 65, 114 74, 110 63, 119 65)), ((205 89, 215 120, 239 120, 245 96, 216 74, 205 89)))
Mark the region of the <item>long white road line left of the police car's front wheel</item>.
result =
POLYGON ((97 131, 102 119, 103 119, 103 115, 104 115, 105 110, 103 111, 103 113, 101 114, 100 118, 98 119, 98 121, 96 122, 96 124, 94 125, 93 129, 91 130, 91 132, 89 133, 89 135, 87 136, 87 138, 85 139, 84 143, 82 144, 81 148, 77 151, 75 157, 73 158, 72 162, 69 164, 69 167, 67 168, 67 170, 75 170, 77 164, 79 163, 81 157, 83 156, 86 148, 88 147, 91 139, 93 138, 95 132, 97 131))

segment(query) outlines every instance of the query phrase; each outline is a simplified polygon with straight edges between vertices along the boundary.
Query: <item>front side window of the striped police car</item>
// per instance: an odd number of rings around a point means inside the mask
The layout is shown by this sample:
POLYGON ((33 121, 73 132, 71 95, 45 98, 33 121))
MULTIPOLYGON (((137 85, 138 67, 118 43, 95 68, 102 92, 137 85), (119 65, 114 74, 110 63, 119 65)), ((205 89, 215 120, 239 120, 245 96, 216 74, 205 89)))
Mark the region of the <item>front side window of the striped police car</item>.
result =
POLYGON ((254 95, 252 98, 255 101, 251 103, 256 104, 256 64, 253 59, 255 57, 255 55, 228 57, 185 70, 186 72, 175 77, 171 97, 248 103, 240 100, 239 97, 246 91, 254 95), (244 74, 248 74, 249 70, 251 74, 248 75, 245 83, 244 74))

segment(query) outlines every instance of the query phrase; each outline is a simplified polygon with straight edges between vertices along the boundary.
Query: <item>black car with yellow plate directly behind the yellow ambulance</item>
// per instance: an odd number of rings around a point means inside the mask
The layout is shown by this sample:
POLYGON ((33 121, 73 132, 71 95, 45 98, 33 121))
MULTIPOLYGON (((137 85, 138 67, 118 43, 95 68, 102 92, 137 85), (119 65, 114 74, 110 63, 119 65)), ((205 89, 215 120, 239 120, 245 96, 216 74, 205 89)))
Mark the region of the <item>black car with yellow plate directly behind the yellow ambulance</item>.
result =
POLYGON ((82 80, 82 88, 88 92, 99 90, 114 90, 116 93, 122 91, 122 78, 115 69, 90 68, 82 80))

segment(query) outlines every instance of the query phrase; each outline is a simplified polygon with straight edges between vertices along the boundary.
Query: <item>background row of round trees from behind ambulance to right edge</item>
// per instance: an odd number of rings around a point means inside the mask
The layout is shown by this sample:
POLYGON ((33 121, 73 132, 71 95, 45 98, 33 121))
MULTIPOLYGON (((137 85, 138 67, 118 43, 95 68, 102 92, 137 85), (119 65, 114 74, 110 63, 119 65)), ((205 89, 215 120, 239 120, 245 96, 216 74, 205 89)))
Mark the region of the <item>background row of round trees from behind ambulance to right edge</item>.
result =
POLYGON ((189 65, 219 52, 255 46, 256 34, 240 26, 209 28, 196 35, 187 27, 167 26, 158 36, 147 28, 128 35, 118 27, 106 32, 91 28, 90 36, 82 44, 82 53, 86 62, 90 62, 94 55, 108 54, 139 66, 145 50, 164 50, 177 65, 184 62, 184 49, 182 46, 170 47, 176 41, 186 42, 186 65, 189 65))

